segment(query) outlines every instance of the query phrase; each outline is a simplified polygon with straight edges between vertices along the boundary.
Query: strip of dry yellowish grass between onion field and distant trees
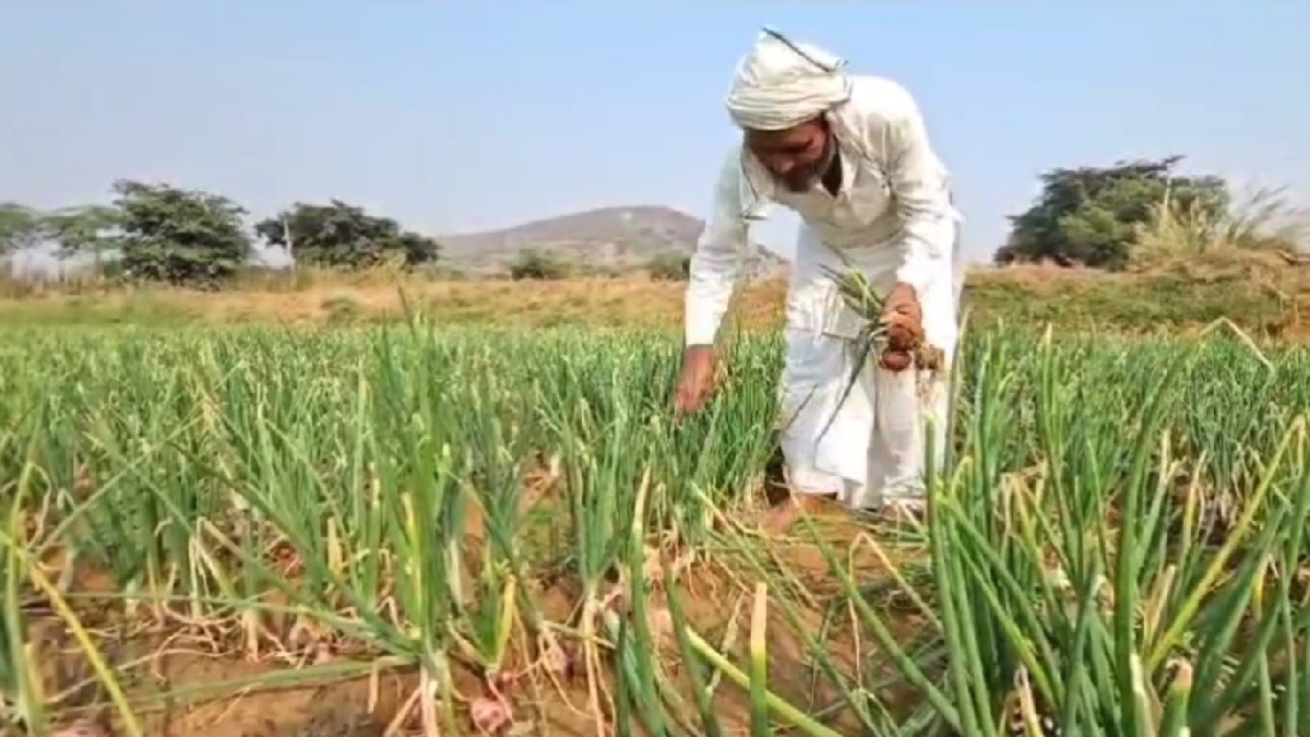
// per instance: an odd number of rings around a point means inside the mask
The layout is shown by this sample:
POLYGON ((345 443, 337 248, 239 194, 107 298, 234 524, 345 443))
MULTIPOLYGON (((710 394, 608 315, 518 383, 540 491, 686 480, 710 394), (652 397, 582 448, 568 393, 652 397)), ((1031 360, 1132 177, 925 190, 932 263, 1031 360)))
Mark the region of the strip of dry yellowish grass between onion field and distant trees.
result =
MULTIPOLYGON (((12 287, 12 285, 10 285, 12 287)), ((457 281, 396 273, 301 273, 250 279, 221 292, 126 290, 106 285, 7 289, 0 323, 356 325, 406 309, 448 324, 677 329, 685 285, 646 278, 558 282, 457 281)), ((783 279, 747 287, 731 311, 741 328, 781 324, 783 279)), ((1229 317, 1265 336, 1306 334, 1310 266, 1275 250, 1212 248, 1140 262, 1125 274, 1056 266, 977 268, 968 277, 971 320, 1018 328, 1174 332, 1229 317)))

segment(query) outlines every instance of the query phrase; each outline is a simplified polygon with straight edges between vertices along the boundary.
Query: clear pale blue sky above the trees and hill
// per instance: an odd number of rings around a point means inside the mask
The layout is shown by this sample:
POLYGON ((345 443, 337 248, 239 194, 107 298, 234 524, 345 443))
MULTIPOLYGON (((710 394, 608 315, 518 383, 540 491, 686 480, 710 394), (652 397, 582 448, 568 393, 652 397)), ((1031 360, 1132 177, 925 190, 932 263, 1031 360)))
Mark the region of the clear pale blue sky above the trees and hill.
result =
MULTIPOLYGON (((1310 194, 1310 3, 0 3, 0 201, 118 177, 431 233, 702 215, 761 25, 905 84, 985 257, 1060 165, 1186 153, 1310 194)), ((785 249, 795 223, 762 231, 785 249)))

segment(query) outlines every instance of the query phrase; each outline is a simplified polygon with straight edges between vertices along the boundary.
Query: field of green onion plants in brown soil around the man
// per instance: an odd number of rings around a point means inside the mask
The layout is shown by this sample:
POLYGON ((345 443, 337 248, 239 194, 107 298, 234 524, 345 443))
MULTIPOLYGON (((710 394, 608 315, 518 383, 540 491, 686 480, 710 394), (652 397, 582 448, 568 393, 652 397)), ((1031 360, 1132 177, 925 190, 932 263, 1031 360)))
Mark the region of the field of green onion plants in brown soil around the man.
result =
POLYGON ((976 332, 924 526, 776 534, 774 337, 4 338, 0 732, 1310 734, 1310 350, 976 332))

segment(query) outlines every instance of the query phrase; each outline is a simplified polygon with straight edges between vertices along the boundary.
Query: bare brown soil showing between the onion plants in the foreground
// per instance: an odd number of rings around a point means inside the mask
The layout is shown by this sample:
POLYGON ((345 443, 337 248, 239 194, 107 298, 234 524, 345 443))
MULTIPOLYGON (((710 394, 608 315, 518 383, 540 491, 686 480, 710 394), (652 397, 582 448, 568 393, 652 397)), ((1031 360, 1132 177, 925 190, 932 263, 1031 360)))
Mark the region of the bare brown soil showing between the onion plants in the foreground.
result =
MULTIPOLYGON (((540 498, 549 493, 553 484, 549 475, 538 476, 533 492, 525 496, 540 498)), ((470 528, 470 544, 476 546, 482 538, 478 522, 473 521, 470 528)), ((867 543, 871 538, 865 523, 834 509, 816 515, 814 528, 862 581, 886 577, 887 561, 867 543)), ((794 540, 770 535, 770 544, 765 548, 774 559, 772 563, 791 578, 795 590, 785 597, 800 605, 800 628, 824 643, 844 673, 865 670, 867 678, 870 667, 880 669, 879 660, 874 657, 876 647, 866 633, 855 633, 850 607, 833 607, 836 614, 828 611, 829 603, 844 591, 829 574, 820 549, 799 539, 804 534, 794 530, 794 540)), ((64 561, 55 556, 46 563, 48 569, 58 570, 64 561)), ((80 594, 115 591, 113 581, 92 570, 73 570, 69 578, 72 589, 80 594)), ((745 662, 749 597, 756 580, 758 576, 744 561, 727 557, 697 561, 680 577, 680 588, 684 589, 680 601, 688 620, 706 641, 722 647, 724 633, 731 629, 730 623, 735 623, 735 644, 724 649, 739 664, 745 662)), ((545 581, 537 590, 536 601, 550 622, 565 623, 575 610, 578 590, 576 582, 567 577, 545 581)), ((93 720, 103 732, 80 734, 127 734, 114 716, 109 695, 96 686, 86 658, 60 620, 34 599, 28 605, 31 623, 29 643, 35 648, 31 660, 38 664, 50 700, 60 695, 50 709, 51 723, 71 727, 75 720, 93 720)), ((909 639, 921 633, 924 622, 912 607, 883 608, 884 618, 899 636, 909 639)), ((257 652, 240 636, 237 627, 200 629, 177 618, 152 618, 155 622, 147 627, 143 622, 126 620, 117 607, 109 605, 97 608, 80 603, 79 616, 96 635, 97 647, 134 702, 143 733, 151 737, 383 737, 424 733, 419 709, 410 708, 414 703, 411 696, 421 686, 417 673, 413 669, 388 670, 369 660, 376 656, 348 643, 318 643, 317 650, 310 643, 303 653, 324 667, 358 665, 358 669, 350 667, 348 675, 310 685, 278 686, 279 681, 287 683, 286 677, 293 674, 295 666, 284 658, 271 657, 267 645, 257 652)), ((770 688, 776 694, 807 712, 840 702, 817 675, 806 656, 803 637, 782 607, 770 607, 768 633, 770 688)), ((668 632, 664 635, 660 660, 665 671, 681 681, 676 640, 668 632)), ((525 644, 519 649, 521 653, 529 650, 525 644)), ((511 660, 516 662, 507 670, 519 670, 528 665, 529 658, 520 656, 511 660)), ((579 667, 574 669, 571 678, 559 683, 545 675, 544 669, 524 670, 531 674, 520 677, 507 688, 514 723, 508 729, 499 730, 500 734, 567 737, 601 733, 596 720, 586 713, 587 679, 579 674, 579 667)), ((464 696, 457 709, 461 733, 477 734, 468 720, 469 706, 486 696, 487 687, 472 671, 456 669, 452 675, 456 691, 464 696)), ((910 706, 917 700, 908 691, 886 696, 889 704, 910 706)), ((689 690, 684 699, 694 704, 689 690)), ((748 728, 747 694, 724 678, 715 695, 715 713, 730 733, 748 728)), ((694 724, 696 715, 688 716, 694 724)), ((838 715, 831 725, 844 733, 857 733, 852 719, 838 715)), ((84 728, 86 724, 83 721, 84 728)), ((71 737, 79 733, 56 730, 52 734, 71 737)))

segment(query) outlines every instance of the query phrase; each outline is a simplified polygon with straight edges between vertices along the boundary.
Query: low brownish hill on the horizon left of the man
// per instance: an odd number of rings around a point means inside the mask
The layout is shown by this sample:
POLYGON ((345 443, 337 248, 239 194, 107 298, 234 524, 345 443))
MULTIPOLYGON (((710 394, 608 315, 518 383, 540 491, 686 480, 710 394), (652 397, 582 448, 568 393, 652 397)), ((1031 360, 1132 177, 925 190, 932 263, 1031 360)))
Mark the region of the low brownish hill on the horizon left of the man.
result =
MULTIPOLYGON (((504 271, 524 250, 558 254, 592 269, 639 269, 667 253, 692 253, 705 223, 671 207, 601 207, 479 233, 440 236, 444 260, 474 273, 504 271)), ((758 250, 758 249, 757 249, 758 250)), ((785 262, 760 250, 752 273, 785 262)))

